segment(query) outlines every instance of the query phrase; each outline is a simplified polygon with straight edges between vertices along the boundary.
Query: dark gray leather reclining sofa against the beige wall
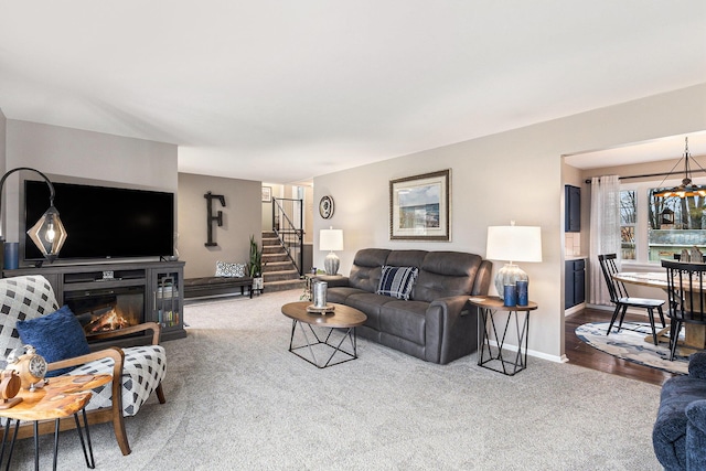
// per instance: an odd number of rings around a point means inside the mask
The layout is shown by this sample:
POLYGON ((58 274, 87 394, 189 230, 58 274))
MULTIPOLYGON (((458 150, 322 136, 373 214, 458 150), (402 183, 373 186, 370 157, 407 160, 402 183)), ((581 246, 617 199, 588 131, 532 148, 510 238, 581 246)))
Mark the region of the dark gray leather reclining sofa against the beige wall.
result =
POLYGON ((355 254, 349 277, 318 279, 329 285, 328 302, 367 315, 360 336, 447 364, 478 347, 478 309, 468 298, 488 295, 491 270, 492 264, 474 254, 365 248, 355 254), (383 274, 391 279, 393 271, 383 267, 417 268, 408 299, 377 293, 383 274))

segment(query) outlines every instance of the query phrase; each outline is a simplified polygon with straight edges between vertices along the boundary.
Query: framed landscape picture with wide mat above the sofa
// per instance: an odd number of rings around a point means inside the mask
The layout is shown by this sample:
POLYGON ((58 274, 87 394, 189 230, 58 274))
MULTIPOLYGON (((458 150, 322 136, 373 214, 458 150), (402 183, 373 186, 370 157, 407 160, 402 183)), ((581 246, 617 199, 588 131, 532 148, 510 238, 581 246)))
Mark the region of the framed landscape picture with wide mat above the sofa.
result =
POLYGON ((451 169, 389 181, 391 240, 450 240, 451 169))

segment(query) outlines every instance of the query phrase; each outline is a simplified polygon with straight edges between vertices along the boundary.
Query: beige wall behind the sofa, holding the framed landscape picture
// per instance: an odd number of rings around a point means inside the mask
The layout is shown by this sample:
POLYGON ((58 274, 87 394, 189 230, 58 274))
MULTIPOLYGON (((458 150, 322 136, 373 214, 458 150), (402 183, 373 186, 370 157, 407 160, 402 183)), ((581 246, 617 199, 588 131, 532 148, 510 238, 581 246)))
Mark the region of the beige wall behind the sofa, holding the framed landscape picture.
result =
MULTIPOLYGON (((314 201, 335 200, 331 220, 314 221, 318 231, 342 228, 347 274, 355 251, 364 247, 449 249, 485 254, 488 226, 542 227, 543 263, 521 264, 530 276, 532 313, 530 351, 564 361, 564 154, 706 129, 706 83, 567 118, 486 136, 314 179, 314 201), (452 240, 391 242, 389 180, 452 169, 452 240)), ((472 132, 472 130, 469 130, 472 132)), ((503 260, 493 260, 496 271, 503 260)), ((506 261, 506 260, 505 260, 506 261)), ((494 288, 491 288, 494 291, 494 288)))

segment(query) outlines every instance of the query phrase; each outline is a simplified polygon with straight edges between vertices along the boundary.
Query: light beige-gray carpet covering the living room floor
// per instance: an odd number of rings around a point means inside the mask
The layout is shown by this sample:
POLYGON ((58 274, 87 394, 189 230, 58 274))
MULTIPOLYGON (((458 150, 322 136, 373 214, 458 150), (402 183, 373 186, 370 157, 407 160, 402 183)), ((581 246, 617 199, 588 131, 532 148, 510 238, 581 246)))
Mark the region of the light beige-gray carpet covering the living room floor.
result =
MULTIPOLYGON (((97 470, 659 470, 657 386, 530 357, 514 377, 471 355, 440 366, 359 340, 317 370, 287 351, 300 291, 189 304, 165 342, 168 403, 127 419, 122 457, 92 428, 97 470)), ((60 469, 85 469, 75 431, 60 469)), ((51 438, 42 440, 51 469, 51 438)), ((13 469, 31 469, 23 440, 13 469)))

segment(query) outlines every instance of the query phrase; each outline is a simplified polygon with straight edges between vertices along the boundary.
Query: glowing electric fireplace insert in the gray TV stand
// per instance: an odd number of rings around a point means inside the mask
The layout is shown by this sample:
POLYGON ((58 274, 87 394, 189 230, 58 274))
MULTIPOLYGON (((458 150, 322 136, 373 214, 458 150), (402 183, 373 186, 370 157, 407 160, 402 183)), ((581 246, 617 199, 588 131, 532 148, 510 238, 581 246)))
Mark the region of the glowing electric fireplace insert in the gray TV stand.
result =
POLYGON ((86 338, 145 322, 145 287, 67 291, 64 302, 84 328, 86 338))

